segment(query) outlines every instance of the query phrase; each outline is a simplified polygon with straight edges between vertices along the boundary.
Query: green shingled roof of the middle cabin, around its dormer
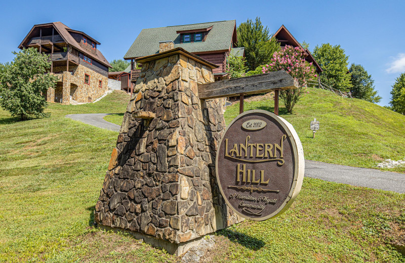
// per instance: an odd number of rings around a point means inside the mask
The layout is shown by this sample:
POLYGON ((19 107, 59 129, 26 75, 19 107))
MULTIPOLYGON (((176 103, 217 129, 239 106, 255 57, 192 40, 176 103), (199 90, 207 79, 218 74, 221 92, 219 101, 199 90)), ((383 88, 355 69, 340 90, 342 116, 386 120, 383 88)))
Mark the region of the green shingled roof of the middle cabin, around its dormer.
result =
POLYGON ((173 41, 175 48, 183 48, 191 53, 228 50, 231 47, 235 25, 235 20, 229 20, 142 29, 127 54, 125 54, 124 59, 159 53, 160 41, 173 41), (206 40, 201 42, 180 43, 180 34, 176 33, 176 31, 208 28, 210 26, 212 26, 212 29, 208 33, 206 40))

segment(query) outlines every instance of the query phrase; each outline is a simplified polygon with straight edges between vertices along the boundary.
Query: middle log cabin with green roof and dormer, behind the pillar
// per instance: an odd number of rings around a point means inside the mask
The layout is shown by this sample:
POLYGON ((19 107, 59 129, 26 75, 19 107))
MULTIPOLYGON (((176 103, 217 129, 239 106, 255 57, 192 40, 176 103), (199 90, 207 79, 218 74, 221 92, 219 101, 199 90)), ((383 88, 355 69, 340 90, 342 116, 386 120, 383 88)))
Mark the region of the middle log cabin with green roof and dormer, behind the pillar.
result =
POLYGON ((142 29, 124 59, 131 60, 131 81, 135 82, 139 76, 137 58, 183 48, 216 64, 214 78, 221 80, 227 78, 226 58, 230 54, 245 57, 245 48, 236 48, 236 40, 235 20, 142 29))

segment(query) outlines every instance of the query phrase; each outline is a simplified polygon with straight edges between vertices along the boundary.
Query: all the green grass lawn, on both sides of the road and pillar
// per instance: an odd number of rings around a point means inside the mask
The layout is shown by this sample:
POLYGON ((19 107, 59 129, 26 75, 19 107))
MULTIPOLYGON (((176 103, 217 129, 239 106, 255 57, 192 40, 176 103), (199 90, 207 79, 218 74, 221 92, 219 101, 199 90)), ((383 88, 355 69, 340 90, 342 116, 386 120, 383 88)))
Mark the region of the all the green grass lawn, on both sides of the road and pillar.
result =
MULTIPOLYGON (((310 93, 295 114, 282 115, 299 131, 306 158, 337 158, 337 163, 358 166, 375 163, 372 154, 403 158, 403 116, 327 92, 316 96, 310 93), (319 110, 311 113, 305 105, 319 110), (332 114, 340 108, 352 111, 332 114), (375 112, 383 115, 381 119, 375 112), (314 140, 308 128, 313 117, 321 123, 314 140), (352 125, 328 128, 340 120, 352 125), (402 122, 395 123, 398 120, 402 122), (380 121, 385 122, 373 130, 380 121), (362 123, 367 126, 360 127, 362 123)), ((0 109, 0 262, 179 261, 127 235, 93 227, 95 203, 117 133, 64 115, 122 113, 128 100, 125 93, 114 92, 94 104, 50 104, 51 117, 24 122, 0 109)), ((255 104, 247 103, 245 109, 255 104)), ((257 107, 272 110, 270 101, 257 107)), ((237 109, 235 105, 227 110, 228 123, 237 109)), ((404 245, 404 233, 404 194, 305 178, 301 194, 285 214, 219 231, 217 244, 201 262, 405 262, 391 245, 404 245)))

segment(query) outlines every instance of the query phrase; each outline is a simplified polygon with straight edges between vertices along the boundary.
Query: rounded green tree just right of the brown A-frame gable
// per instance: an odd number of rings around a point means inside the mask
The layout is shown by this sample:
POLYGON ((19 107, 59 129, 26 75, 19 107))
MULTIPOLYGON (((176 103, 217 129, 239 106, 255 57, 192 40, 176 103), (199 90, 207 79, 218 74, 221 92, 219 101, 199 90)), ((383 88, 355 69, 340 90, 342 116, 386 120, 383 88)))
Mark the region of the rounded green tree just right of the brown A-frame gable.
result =
POLYGON ((313 50, 313 57, 322 68, 320 81, 326 83, 342 92, 350 91, 351 74, 348 73, 348 59, 344 49, 340 45, 332 46, 330 43, 316 46, 313 50))

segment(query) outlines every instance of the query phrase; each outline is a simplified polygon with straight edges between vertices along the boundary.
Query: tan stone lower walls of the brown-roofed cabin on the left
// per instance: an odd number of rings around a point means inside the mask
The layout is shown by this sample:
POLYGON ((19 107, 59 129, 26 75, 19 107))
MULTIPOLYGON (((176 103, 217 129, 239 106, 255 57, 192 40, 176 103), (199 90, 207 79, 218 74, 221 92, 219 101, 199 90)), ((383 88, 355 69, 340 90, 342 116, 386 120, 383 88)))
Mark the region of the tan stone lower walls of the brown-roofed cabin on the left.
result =
MULTIPOLYGON (((66 70, 65 66, 54 67, 54 71, 56 72, 63 70, 66 70)), ((57 94, 55 91, 55 97, 58 98, 57 102, 60 102, 60 98, 62 98, 62 104, 70 104, 71 100, 77 102, 92 102, 107 91, 107 77, 82 65, 69 67, 69 70, 73 70, 73 75, 67 71, 56 74, 60 80, 58 84, 61 83, 61 85, 63 85, 63 94, 57 94), (85 83, 85 74, 90 76, 90 84, 85 83), (99 80, 102 81, 102 87, 99 87, 99 80)), ((51 96, 47 96, 48 102, 54 102, 55 100, 56 99, 52 99, 51 96)))

